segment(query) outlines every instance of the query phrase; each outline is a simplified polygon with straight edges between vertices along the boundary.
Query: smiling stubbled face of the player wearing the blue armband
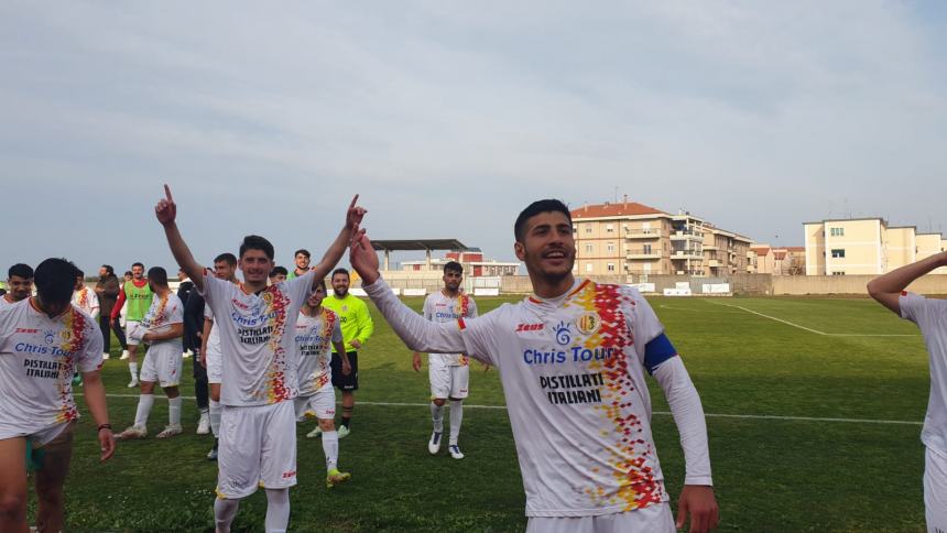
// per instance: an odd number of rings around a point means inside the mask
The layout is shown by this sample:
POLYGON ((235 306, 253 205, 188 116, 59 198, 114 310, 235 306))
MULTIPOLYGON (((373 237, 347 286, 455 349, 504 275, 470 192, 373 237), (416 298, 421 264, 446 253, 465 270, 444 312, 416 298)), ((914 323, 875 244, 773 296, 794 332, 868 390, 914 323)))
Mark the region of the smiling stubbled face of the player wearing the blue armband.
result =
POLYGON ((562 280, 573 271, 576 241, 573 225, 565 214, 540 213, 526 220, 523 242, 513 249, 526 263, 526 271, 549 281, 562 280))

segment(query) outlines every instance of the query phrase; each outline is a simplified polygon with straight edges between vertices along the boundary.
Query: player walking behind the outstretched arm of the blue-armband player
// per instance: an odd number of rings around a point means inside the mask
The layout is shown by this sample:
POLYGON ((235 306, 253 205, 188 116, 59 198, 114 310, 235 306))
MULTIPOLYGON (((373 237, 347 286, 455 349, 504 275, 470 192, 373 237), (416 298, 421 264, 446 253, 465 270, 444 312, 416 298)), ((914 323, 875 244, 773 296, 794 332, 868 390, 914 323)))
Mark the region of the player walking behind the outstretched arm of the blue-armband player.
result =
MULTIPOLYGON (((464 294, 460 283, 464 281, 464 266, 456 261, 444 265, 444 289, 429 294, 424 300, 423 315, 432 322, 456 323, 461 318, 477 316, 477 304, 474 298, 464 294)), ((447 450, 450 457, 462 459, 464 453, 457 444, 460 436, 460 422, 464 420, 464 399, 468 394, 470 383, 470 366, 464 353, 429 353, 427 356, 427 376, 431 380, 431 420, 434 432, 427 442, 427 450, 432 455, 440 450, 440 435, 444 433, 444 404, 450 400, 450 439, 447 450)), ((414 371, 421 370, 421 353, 414 352, 412 361, 414 371)))

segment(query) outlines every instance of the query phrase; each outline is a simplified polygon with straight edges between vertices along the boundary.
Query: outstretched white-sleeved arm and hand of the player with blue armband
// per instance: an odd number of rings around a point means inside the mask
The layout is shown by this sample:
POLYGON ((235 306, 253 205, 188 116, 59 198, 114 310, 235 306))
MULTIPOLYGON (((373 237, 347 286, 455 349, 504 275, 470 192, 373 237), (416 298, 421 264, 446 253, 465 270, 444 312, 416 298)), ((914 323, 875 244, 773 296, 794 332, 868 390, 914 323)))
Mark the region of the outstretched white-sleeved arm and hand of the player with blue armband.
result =
MULTIPOLYGON (((381 280, 378 254, 363 232, 352 240, 349 261, 362 279, 362 289, 378 306, 394 333, 414 351, 460 353, 468 351, 461 333, 462 322, 433 323, 404 305, 381 280)), ((474 351, 474 350, 471 350, 474 351)), ((470 353, 475 356, 475 353, 470 353)), ((476 357, 476 356, 475 356, 476 357)))

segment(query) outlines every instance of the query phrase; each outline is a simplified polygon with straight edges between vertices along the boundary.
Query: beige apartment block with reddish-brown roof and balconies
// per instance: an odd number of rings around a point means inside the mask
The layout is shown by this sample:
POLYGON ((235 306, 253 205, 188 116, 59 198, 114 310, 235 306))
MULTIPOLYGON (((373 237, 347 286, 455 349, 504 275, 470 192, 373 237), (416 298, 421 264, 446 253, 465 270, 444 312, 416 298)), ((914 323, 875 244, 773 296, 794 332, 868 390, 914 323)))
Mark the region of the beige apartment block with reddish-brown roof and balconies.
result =
POLYGON ((585 205, 572 216, 577 275, 743 272, 741 250, 751 242, 689 213, 671 215, 627 199, 585 205))

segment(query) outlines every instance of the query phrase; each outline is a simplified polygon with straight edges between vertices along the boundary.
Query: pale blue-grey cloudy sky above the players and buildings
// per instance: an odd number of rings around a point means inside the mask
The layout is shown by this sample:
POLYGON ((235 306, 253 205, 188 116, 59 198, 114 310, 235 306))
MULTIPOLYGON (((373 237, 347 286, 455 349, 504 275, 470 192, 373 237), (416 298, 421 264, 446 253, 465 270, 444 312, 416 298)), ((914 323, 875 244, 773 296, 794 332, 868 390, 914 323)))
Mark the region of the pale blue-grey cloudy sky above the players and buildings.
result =
POLYGON ((205 260, 320 254, 355 193, 370 236, 500 260, 541 197, 947 231, 944 6, 7 0, 0 261, 171 266, 163 182, 205 260))

